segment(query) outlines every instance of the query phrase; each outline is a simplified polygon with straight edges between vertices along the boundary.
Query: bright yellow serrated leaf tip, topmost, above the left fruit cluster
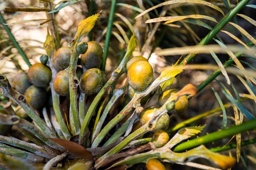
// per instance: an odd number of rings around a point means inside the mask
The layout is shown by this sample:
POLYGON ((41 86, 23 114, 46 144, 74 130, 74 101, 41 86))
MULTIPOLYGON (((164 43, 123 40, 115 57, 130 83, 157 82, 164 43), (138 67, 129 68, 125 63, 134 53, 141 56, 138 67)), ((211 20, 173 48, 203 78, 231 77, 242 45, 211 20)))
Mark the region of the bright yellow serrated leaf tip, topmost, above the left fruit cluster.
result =
POLYGON ((76 36, 75 36, 75 43, 79 42, 85 34, 90 32, 95 25, 96 20, 99 18, 101 11, 95 15, 92 15, 82 21, 79 22, 76 36))

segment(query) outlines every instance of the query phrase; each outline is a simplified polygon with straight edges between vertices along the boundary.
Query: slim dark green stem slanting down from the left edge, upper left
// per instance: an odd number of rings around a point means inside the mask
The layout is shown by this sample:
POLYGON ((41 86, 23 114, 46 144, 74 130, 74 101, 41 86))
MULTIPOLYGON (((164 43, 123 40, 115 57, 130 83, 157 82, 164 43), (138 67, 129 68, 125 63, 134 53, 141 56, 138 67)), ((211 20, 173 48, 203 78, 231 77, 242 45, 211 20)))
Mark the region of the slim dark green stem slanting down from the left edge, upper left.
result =
POLYGON ((28 67, 31 66, 30 62, 28 61, 28 57, 26 56, 26 54, 24 53, 24 51, 21 49, 19 43, 16 41, 16 39, 14 38, 14 36, 12 35, 12 32, 10 30, 10 28, 6 24, 2 14, 0 13, 0 21, 5 29, 5 31, 7 32, 9 38, 11 39, 13 45, 17 48, 17 50, 19 51, 21 57, 23 58, 23 60, 27 63, 28 67))

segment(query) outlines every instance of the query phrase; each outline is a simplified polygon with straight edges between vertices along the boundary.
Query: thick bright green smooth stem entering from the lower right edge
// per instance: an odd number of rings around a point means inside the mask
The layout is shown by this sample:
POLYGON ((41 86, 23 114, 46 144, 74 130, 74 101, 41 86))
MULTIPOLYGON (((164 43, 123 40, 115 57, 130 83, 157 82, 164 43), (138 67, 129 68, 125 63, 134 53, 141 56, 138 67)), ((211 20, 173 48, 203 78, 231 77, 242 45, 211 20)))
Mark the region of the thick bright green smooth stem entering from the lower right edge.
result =
POLYGON ((192 147, 196 147, 196 146, 199 146, 199 145, 202 145, 202 144, 206 144, 206 143, 210 143, 210 142, 213 142, 213 141, 216 141, 216 140, 220 140, 220 139, 235 135, 237 133, 252 130, 254 128, 256 128, 256 119, 245 122, 245 123, 240 124, 238 126, 232 126, 228 129, 224 129, 222 131, 215 131, 215 132, 212 132, 212 133, 207 134, 205 136, 189 140, 187 142, 184 142, 184 143, 176 146, 173 149, 173 151, 174 152, 184 151, 184 150, 190 149, 192 147))

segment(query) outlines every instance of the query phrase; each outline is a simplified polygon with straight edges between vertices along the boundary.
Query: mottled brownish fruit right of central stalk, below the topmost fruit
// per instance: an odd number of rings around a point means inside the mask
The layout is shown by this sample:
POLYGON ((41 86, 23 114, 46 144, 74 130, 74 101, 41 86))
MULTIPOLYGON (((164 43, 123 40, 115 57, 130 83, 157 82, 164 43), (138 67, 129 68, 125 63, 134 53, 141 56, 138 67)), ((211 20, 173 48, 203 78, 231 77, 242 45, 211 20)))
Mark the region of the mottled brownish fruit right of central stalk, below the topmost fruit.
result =
POLYGON ((102 88, 103 81, 103 75, 100 69, 90 68, 80 78, 80 92, 86 95, 96 94, 102 88))

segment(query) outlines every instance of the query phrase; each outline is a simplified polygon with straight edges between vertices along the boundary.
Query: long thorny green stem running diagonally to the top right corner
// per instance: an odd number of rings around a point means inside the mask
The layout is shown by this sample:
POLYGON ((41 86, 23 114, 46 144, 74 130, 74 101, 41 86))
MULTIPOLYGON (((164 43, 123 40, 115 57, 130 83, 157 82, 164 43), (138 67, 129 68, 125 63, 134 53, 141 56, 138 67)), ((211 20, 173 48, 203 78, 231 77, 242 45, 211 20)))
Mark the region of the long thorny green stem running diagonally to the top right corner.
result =
MULTIPOLYGON (((220 30, 228 24, 228 22, 233 19, 236 14, 244 8, 244 6, 250 2, 250 0, 242 0, 240 1, 233 10, 229 11, 228 14, 222 18, 222 20, 202 39, 198 45, 206 45, 212 38, 217 35, 217 33, 220 32, 220 30)), ((185 65, 187 64, 190 60, 192 60, 197 53, 190 53, 185 57, 179 65, 185 65)))

